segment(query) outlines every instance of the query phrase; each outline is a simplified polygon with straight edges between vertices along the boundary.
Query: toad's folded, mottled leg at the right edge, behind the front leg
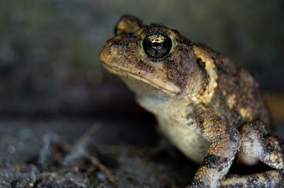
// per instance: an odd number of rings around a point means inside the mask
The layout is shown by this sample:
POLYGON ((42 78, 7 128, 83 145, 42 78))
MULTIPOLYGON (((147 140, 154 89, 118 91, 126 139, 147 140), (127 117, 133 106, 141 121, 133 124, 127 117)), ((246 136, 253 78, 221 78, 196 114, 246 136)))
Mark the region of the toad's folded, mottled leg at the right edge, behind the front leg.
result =
POLYGON ((274 170, 253 175, 231 175, 222 187, 284 187, 284 140, 271 136, 261 121, 246 123, 240 129, 238 161, 253 165, 260 160, 274 170))

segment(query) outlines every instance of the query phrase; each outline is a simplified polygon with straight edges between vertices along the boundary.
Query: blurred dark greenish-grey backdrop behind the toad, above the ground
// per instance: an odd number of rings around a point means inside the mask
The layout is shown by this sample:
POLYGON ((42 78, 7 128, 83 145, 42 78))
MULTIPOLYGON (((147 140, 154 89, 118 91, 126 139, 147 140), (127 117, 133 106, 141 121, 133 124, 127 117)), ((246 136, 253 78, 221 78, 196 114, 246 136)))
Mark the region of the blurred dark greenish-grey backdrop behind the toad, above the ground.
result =
POLYGON ((129 111, 128 90, 98 60, 125 13, 209 45, 249 69, 264 91, 284 90, 281 0, 2 0, 0 114, 129 111))

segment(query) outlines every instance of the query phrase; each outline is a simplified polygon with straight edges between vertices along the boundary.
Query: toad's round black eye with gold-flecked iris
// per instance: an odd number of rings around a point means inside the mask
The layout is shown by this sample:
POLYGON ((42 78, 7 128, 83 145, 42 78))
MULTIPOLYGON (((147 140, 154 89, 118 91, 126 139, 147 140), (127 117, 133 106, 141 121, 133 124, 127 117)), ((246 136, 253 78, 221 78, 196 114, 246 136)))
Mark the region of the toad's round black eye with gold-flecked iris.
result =
POLYGON ((166 57, 172 49, 172 40, 165 33, 155 31, 146 35, 143 40, 143 50, 148 57, 166 57))

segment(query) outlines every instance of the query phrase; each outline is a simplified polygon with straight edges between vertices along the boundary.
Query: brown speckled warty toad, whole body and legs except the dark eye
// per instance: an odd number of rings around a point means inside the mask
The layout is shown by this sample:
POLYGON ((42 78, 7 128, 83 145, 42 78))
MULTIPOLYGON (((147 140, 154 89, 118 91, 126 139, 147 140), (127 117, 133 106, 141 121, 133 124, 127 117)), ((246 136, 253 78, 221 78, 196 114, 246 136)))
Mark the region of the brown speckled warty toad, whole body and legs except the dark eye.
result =
POLYGON ((271 136, 268 110, 246 70, 178 31, 143 26, 133 16, 120 19, 99 59, 136 92, 171 142, 200 162, 188 187, 283 187, 283 140, 271 136), (143 51, 143 39, 156 31, 173 43, 165 57, 143 51), (260 160, 272 170, 226 177, 236 156, 246 165, 260 160))

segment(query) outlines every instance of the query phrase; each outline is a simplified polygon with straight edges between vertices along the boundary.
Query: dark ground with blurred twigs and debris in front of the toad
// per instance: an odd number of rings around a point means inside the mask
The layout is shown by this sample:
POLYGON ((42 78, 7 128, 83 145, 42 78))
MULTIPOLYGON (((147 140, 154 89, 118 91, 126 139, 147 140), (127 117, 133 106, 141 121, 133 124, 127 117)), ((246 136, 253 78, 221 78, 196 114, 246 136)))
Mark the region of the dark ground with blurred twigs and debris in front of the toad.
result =
POLYGON ((0 126, 0 187, 182 187, 198 167, 152 117, 22 117, 0 126))

